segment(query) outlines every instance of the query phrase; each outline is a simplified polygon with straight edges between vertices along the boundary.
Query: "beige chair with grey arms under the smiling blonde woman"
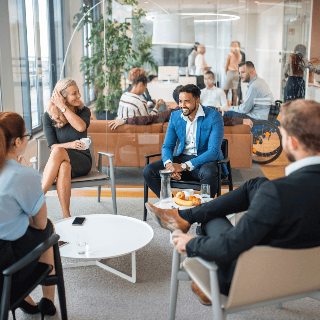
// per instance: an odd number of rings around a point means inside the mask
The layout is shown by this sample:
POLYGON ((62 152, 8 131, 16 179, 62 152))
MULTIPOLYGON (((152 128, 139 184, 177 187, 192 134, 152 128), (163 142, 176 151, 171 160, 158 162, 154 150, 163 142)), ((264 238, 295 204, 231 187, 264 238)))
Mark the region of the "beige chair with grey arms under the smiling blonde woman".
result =
MULTIPOLYGON (((91 136, 88 136, 92 140, 91 136)), ((115 184, 115 173, 113 169, 114 155, 106 152, 98 152, 98 169, 96 167, 96 161, 93 152, 93 143, 89 146, 90 154, 92 157, 92 168, 91 171, 83 177, 77 177, 71 179, 71 188, 84 188, 84 187, 98 187, 98 202, 100 202, 101 186, 107 184, 106 180, 111 180, 111 194, 113 203, 113 213, 117 214, 117 203, 116 203, 116 184, 115 184), (107 156, 110 159, 110 178, 108 175, 102 173, 102 156, 107 156)), ((33 168, 38 170, 41 177, 44 171, 44 167, 50 157, 50 150, 45 139, 38 139, 38 157, 32 157, 30 162, 33 164, 33 168)), ((49 190, 57 190, 56 183, 54 182, 49 190)))

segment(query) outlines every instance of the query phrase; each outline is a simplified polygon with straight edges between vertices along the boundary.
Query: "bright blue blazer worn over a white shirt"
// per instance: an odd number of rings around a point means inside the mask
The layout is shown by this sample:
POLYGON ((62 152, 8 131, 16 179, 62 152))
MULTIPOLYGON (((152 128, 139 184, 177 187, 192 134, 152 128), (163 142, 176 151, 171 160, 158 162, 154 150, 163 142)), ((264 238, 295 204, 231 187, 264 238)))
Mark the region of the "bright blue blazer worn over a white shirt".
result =
MULTIPOLYGON (((223 118, 220 112, 208 107, 202 106, 205 116, 198 117, 197 122, 197 157, 191 159, 191 163, 195 170, 199 166, 215 160, 223 160, 221 144, 224 134, 223 118)), ((180 144, 177 156, 181 154, 186 142, 187 122, 181 118, 182 111, 172 112, 167 132, 165 134, 164 143, 161 148, 162 162, 167 160, 173 162, 173 151, 179 138, 180 144)), ((222 174, 228 174, 227 165, 222 164, 222 174)))

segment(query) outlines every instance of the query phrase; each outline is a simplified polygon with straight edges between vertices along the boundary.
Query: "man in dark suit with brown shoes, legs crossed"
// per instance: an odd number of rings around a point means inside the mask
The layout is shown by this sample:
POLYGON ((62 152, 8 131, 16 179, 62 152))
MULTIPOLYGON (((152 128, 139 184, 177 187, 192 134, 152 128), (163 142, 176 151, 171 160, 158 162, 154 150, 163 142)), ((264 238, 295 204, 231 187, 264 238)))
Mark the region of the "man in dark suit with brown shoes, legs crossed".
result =
MULTIPOLYGON (((162 210, 146 207, 158 223, 170 230, 187 232, 202 224, 198 237, 174 235, 180 253, 215 261, 220 292, 228 295, 240 253, 254 245, 279 248, 311 248, 320 245, 320 104, 294 100, 281 108, 283 150, 292 163, 286 177, 269 181, 255 178, 211 202, 191 209, 162 210), (226 215, 248 210, 233 227, 226 215)), ((192 289, 210 304, 199 288, 192 289)), ((201 301, 200 300, 200 301, 201 301)))

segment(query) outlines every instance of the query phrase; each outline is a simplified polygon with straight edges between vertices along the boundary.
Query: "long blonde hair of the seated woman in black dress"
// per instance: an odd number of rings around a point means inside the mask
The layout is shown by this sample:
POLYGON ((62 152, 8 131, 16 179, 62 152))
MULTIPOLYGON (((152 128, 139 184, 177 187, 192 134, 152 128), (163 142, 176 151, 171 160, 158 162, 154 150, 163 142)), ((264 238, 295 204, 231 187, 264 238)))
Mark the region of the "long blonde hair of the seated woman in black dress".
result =
MULTIPOLYGON (((56 90, 57 92, 60 92, 62 94, 63 98, 66 98, 68 95, 68 87, 73 84, 76 84, 76 80, 72 78, 63 78, 59 80, 53 88, 52 95, 53 92, 56 90)), ((67 107, 71 107, 67 102, 65 103, 67 107)), ((73 108, 73 112, 76 113, 77 110, 82 110, 84 108, 84 103, 80 100, 80 106, 73 108)), ((54 127, 62 128, 65 124, 69 123, 62 111, 58 107, 56 107, 51 101, 49 101, 47 112, 51 119, 56 122, 54 127)))

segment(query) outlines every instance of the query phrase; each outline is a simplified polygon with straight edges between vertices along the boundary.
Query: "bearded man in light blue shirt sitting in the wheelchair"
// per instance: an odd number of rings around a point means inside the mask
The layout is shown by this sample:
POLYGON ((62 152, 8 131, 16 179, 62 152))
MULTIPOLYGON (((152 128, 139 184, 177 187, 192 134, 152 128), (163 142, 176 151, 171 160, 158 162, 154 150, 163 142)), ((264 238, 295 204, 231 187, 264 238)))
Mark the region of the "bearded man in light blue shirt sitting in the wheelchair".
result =
POLYGON ((257 76, 251 61, 239 64, 242 82, 248 82, 244 102, 239 106, 227 107, 224 116, 253 120, 268 120, 270 105, 275 101, 268 84, 257 76), (229 110, 229 111, 228 111, 229 110))

